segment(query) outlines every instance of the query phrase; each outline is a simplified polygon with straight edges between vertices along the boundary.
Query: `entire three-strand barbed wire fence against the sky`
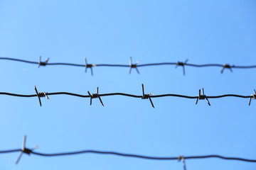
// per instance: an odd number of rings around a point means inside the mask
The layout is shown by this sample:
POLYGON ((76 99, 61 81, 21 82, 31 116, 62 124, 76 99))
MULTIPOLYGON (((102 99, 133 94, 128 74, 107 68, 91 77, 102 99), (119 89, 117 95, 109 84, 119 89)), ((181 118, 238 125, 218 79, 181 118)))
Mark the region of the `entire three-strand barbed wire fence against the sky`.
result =
MULTIPOLYGON (((138 67, 147 67, 147 66, 160 66, 160 65, 175 65, 177 68, 178 66, 181 66, 183 68, 183 75, 185 75, 185 66, 190 67, 221 67, 220 72, 223 73, 225 69, 230 69, 230 72, 233 72, 233 69, 255 69, 256 65, 250 65, 250 66, 235 66, 230 64, 188 64, 188 60, 185 62, 161 62, 161 63, 151 63, 151 64, 138 64, 139 62, 136 62, 135 64, 132 63, 132 57, 129 58, 129 64, 88 64, 87 59, 85 57, 85 64, 72 64, 72 63, 62 63, 62 62, 56 62, 56 63, 49 63, 46 59, 45 62, 41 62, 41 57, 39 57, 38 62, 32 62, 27 60, 19 60, 9 57, 0 57, 0 60, 12 60, 17 62, 26 62, 30 64, 38 64, 38 67, 40 66, 46 66, 46 65, 66 65, 66 66, 75 66, 75 67, 85 67, 85 72, 87 72, 87 68, 91 69, 92 67, 129 67, 129 74, 132 72, 132 69, 136 69, 137 73, 139 74, 138 67)), ((70 92, 53 92, 53 93, 47 93, 47 92, 38 92, 36 89, 36 86, 34 86, 34 89, 36 91, 36 94, 11 94, 7 92, 0 92, 0 95, 7 95, 7 96, 16 96, 16 97, 38 97, 38 101, 40 106, 42 106, 41 98, 46 97, 49 99, 48 96, 54 96, 54 95, 68 95, 68 96, 77 96, 81 98, 90 98, 90 105, 92 105, 92 99, 93 98, 99 98, 100 103, 102 106, 104 106, 102 102, 103 96, 128 96, 132 98, 142 98, 142 99, 149 99, 151 106, 154 108, 154 104, 151 98, 162 98, 162 97, 178 97, 178 98, 189 98, 189 99, 196 99, 196 104, 198 103, 198 100, 205 100, 207 101, 208 105, 210 106, 210 101, 208 98, 224 98, 224 97, 238 97, 238 98, 249 98, 249 106, 252 99, 256 99, 256 91, 254 90, 254 94, 250 94, 247 96, 244 95, 238 95, 238 94, 223 94, 219 96, 206 96, 203 89, 199 90, 198 96, 186 96, 181 94, 145 94, 144 93, 144 84, 142 84, 142 95, 134 95, 134 94, 124 94, 124 93, 110 93, 110 94, 99 94, 99 88, 97 87, 97 92, 95 94, 91 94, 90 91, 87 91, 88 95, 82 95, 82 94, 73 94, 70 92), (202 92, 202 93, 201 93, 202 92)), ((210 154, 210 155, 202 155, 202 156, 188 156, 184 157, 183 155, 178 157, 151 157, 151 156, 144 156, 139 154, 127 154, 127 153, 121 153, 121 152, 109 152, 109 151, 100 151, 100 150, 80 150, 75 152, 60 152, 60 153, 42 153, 42 152, 34 152, 33 150, 37 147, 33 147, 31 149, 28 149, 26 147, 26 136, 23 138, 23 145, 21 149, 9 149, 9 150, 1 150, 0 154, 7 154, 12 152, 20 152, 18 159, 16 161, 16 164, 18 164, 19 160, 21 159, 22 154, 34 154, 41 157, 59 157, 59 156, 67 156, 67 155, 75 155, 75 154, 112 154, 119 157, 134 157, 139 159, 154 159, 154 160, 178 160, 183 162, 183 169, 186 170, 186 164, 185 159, 206 159, 206 158, 219 158, 219 159, 225 159, 225 160, 235 160, 235 161, 242 161, 242 162, 252 162, 256 163, 256 159, 245 159, 240 157, 224 157, 221 155, 216 154, 210 154)))

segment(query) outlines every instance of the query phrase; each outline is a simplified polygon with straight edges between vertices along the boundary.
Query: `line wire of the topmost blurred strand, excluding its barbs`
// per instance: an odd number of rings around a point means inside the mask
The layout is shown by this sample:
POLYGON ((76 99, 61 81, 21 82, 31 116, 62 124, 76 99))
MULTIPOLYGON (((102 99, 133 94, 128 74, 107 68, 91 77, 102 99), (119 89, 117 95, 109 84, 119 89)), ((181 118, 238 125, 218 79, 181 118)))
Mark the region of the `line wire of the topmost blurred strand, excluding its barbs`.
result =
MULTIPOLYGON (((9 58, 9 57, 0 57, 0 60, 12 60, 16 62, 26 62, 30 64, 38 64, 38 62, 32 62, 28 60, 20 60, 15 58, 9 58)), ((176 62, 159 62, 159 63, 150 63, 150 64, 137 64, 136 67, 145 67, 145 66, 157 66, 157 65, 176 65, 176 62)), ((76 66, 76 67, 85 67, 85 64, 72 64, 72 63, 63 63, 63 62, 55 62, 55 63, 44 63, 44 65, 70 65, 70 66, 76 66)), ((183 65, 191 66, 191 67, 223 67, 223 64, 187 64, 183 63, 183 65)), ((95 64, 97 67, 131 67, 129 64, 95 64)), ((231 68, 237 68, 237 69, 252 69, 256 68, 256 65, 250 65, 250 66, 230 66, 231 68)))

